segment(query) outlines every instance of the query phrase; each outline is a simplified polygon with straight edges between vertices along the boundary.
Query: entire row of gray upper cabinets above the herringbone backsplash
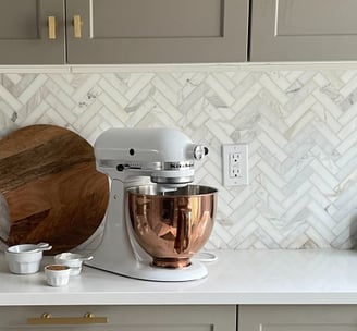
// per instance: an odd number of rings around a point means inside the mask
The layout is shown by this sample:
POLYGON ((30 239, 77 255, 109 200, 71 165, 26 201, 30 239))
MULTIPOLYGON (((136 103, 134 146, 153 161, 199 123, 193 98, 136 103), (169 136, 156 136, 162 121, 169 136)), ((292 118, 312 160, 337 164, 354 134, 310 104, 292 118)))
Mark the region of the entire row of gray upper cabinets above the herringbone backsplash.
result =
POLYGON ((356 12, 356 0, 1 0, 0 65, 357 60, 356 12))

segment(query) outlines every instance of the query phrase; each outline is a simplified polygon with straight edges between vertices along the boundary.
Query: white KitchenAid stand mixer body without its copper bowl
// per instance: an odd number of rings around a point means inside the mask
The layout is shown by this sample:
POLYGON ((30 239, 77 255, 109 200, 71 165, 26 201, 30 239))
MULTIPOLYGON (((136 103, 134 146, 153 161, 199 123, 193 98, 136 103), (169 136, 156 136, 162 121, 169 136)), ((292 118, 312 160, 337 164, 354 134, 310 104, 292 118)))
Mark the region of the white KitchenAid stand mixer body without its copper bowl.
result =
POLYGON ((156 183, 160 192, 186 186, 194 180, 194 160, 208 149, 182 132, 169 128, 110 128, 95 144, 97 170, 111 179, 106 228, 93 260, 86 265, 116 274, 151 281, 190 281, 207 275, 197 260, 168 269, 151 265, 151 257, 135 241, 127 224, 125 191, 156 183))

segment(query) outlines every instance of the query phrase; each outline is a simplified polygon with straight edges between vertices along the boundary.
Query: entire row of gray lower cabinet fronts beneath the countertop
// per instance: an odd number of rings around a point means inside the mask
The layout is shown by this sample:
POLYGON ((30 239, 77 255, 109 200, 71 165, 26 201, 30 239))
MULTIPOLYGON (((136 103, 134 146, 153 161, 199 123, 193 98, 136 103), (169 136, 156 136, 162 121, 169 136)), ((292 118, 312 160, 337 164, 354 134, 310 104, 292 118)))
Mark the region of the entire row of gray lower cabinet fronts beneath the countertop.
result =
POLYGON ((356 331, 353 305, 0 307, 1 331, 356 331))

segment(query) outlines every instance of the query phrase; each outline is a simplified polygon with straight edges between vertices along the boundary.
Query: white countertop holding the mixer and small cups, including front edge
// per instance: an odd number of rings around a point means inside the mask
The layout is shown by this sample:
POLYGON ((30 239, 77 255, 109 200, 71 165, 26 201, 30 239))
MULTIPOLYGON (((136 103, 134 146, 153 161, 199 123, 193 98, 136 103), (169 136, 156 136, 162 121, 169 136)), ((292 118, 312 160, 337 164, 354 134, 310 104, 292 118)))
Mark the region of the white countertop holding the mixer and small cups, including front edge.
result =
MULTIPOLYGON (((0 305, 357 304, 355 250, 220 250, 206 279, 161 283, 84 267, 69 285, 15 275, 0 255, 0 305)), ((52 261, 46 257, 42 265, 52 261)))

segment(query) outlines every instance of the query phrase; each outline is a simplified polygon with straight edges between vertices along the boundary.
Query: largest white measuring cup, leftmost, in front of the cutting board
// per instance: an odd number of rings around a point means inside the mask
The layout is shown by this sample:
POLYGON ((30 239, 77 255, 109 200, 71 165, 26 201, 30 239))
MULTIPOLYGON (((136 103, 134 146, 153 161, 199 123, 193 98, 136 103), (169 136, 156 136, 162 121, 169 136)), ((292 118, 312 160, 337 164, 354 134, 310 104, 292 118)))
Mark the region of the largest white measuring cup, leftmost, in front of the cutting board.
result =
POLYGON ((5 259, 10 272, 17 274, 36 273, 42 259, 42 250, 38 245, 21 244, 8 247, 5 259))

